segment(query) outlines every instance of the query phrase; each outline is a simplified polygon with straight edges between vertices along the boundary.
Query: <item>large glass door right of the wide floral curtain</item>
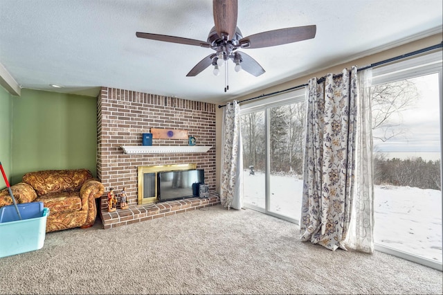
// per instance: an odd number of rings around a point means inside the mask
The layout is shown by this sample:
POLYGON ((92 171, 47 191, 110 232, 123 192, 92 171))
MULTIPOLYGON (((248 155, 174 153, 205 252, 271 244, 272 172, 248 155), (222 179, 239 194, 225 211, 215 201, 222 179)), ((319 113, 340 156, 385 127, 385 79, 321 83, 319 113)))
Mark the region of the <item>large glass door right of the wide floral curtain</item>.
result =
POLYGON ((442 53, 373 77, 376 249, 442 269, 442 53))

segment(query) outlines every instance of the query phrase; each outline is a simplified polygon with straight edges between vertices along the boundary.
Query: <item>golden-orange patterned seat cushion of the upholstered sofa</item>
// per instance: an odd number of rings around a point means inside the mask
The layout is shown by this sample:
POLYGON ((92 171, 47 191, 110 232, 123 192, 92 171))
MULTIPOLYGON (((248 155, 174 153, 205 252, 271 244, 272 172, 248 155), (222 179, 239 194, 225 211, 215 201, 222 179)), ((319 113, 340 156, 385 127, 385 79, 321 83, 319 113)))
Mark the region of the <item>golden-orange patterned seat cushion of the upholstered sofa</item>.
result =
POLYGON ((79 211, 82 208, 82 200, 78 192, 64 192, 49 194, 39 197, 39 202, 43 202, 44 207, 49 208, 51 213, 62 213, 68 211, 79 211))

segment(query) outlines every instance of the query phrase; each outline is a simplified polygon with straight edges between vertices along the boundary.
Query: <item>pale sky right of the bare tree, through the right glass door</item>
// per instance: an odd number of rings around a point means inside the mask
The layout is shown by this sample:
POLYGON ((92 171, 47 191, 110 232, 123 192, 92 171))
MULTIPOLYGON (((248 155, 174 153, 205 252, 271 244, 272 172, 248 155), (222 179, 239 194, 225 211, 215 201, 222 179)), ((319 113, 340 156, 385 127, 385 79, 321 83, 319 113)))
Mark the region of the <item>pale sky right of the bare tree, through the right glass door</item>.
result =
POLYGON ((420 97, 415 105, 401 113, 402 128, 406 132, 384 143, 374 139, 374 150, 379 152, 440 152, 438 74, 408 80, 415 82, 420 97))

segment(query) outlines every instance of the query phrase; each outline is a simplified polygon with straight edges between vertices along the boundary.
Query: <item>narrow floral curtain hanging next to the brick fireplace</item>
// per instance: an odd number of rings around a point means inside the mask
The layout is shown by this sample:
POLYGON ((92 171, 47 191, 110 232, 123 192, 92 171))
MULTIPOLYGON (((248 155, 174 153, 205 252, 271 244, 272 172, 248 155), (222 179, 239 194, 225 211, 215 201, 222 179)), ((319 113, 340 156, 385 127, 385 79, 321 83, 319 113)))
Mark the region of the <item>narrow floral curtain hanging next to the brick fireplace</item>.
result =
POLYGON ((223 115, 220 202, 228 209, 241 209, 243 207, 243 163, 240 107, 237 100, 226 104, 223 115))

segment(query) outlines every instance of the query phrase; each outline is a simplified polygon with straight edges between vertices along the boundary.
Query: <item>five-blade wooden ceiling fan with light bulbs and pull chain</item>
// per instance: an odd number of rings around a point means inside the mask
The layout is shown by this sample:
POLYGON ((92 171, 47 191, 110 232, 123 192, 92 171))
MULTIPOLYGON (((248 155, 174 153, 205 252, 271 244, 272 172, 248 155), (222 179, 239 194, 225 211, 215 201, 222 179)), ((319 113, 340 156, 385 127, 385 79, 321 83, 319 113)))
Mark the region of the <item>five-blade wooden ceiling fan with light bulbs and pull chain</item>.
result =
POLYGON ((188 75, 186 75, 188 77, 198 75, 210 65, 214 66, 214 74, 218 75, 219 66, 222 66, 224 62, 229 59, 235 63, 235 71, 243 69, 257 77, 264 73, 264 69, 251 56, 237 51, 238 48, 247 49, 277 46, 311 39, 316 35, 316 26, 313 25, 269 30, 243 37, 242 32, 240 32, 237 27, 237 0, 213 0, 213 14, 215 26, 210 30, 206 42, 196 39, 141 32, 137 32, 136 36, 163 42, 212 48, 216 53, 206 56, 197 63, 188 75))

